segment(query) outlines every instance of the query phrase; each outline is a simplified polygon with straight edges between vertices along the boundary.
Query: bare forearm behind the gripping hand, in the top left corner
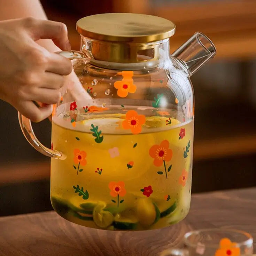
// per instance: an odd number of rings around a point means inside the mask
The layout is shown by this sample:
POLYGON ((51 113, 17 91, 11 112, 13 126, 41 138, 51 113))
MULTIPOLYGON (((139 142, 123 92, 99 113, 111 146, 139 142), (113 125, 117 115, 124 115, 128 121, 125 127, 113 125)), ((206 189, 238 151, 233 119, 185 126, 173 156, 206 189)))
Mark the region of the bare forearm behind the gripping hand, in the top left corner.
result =
MULTIPOLYGON (((39 0, 0 0, 0 10, 0 20, 24 17, 47 20, 47 16, 39 0)), ((50 39, 40 39, 37 43, 49 52, 60 51, 60 48, 50 39)))

